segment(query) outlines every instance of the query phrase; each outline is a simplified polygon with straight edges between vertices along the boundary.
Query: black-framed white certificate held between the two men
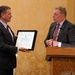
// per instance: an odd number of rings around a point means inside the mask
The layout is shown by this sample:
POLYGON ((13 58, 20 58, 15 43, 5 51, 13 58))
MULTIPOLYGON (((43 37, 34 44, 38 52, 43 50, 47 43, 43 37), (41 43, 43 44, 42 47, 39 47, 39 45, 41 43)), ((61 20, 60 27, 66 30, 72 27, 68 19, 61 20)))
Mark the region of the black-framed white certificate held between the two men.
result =
POLYGON ((18 30, 17 35, 16 47, 25 47, 29 50, 34 50, 37 30, 18 30))

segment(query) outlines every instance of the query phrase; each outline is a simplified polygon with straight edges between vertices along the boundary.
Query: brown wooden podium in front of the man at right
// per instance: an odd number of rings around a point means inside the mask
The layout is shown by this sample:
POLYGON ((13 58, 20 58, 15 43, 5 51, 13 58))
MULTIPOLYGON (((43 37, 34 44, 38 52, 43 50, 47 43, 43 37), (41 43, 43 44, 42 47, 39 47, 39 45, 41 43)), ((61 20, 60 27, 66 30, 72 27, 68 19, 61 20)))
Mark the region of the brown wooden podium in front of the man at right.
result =
POLYGON ((75 48, 47 47, 51 57, 50 75, 75 75, 75 48))

